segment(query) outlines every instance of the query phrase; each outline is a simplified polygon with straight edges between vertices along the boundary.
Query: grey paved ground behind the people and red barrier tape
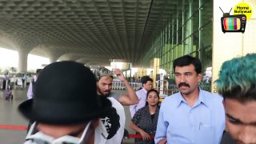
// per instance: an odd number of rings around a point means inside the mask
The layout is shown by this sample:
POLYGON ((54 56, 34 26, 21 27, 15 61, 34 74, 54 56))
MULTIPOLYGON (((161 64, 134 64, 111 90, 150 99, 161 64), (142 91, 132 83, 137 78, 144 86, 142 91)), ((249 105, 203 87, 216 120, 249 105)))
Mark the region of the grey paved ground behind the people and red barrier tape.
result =
MULTIPOLYGON (((14 100, 12 102, 5 100, 5 90, 0 90, 0 144, 21 144, 24 142, 26 137, 26 130, 13 130, 19 127, 15 126, 27 126, 27 120, 18 113, 17 106, 26 100, 27 89, 18 88, 13 90, 14 100), (6 129, 4 127, 12 126, 11 129, 6 129)), ((118 93, 126 93, 126 90, 114 90, 118 93)), ((126 112, 126 130, 130 134, 134 133, 130 130, 130 111, 128 106, 125 107, 126 112)), ((124 140, 123 144, 132 144, 134 139, 124 140)))

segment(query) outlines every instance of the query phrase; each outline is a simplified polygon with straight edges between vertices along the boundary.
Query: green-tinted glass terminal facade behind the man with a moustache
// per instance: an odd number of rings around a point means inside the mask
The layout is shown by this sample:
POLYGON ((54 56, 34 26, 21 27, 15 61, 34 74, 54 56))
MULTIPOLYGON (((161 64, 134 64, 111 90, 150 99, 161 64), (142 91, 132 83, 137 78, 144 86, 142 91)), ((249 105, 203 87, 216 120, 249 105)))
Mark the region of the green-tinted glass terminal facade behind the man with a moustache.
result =
MULTIPOLYGON (((172 79, 174 59, 190 54, 201 59, 205 73, 206 68, 212 65, 213 1, 166 0, 158 5, 165 11, 154 30, 150 50, 142 62, 146 64, 153 58, 159 58, 160 68, 166 70, 172 79)), ((154 12, 154 6, 150 13, 154 12)), ((202 88, 210 91, 210 83, 202 82, 202 88)))

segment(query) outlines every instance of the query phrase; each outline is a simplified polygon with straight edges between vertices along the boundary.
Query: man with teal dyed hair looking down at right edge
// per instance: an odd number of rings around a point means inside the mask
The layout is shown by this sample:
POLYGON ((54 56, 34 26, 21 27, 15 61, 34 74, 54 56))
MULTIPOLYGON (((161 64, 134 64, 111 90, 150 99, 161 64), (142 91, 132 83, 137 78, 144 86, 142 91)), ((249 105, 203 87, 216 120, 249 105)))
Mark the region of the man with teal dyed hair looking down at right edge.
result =
POLYGON ((226 112, 222 143, 256 143, 256 54, 224 62, 215 82, 226 112))

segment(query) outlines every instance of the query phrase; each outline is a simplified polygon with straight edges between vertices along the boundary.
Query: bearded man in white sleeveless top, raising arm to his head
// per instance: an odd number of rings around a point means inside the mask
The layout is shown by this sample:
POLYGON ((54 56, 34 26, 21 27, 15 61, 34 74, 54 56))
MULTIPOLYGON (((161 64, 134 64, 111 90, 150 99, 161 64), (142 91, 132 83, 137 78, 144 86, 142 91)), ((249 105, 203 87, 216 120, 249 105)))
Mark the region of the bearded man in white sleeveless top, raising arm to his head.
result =
POLYGON ((97 93, 101 97, 108 98, 112 102, 112 113, 107 114, 106 118, 102 118, 102 123, 108 129, 109 136, 106 144, 120 144, 124 135, 126 115, 122 105, 134 105, 138 103, 138 98, 134 89, 130 86, 122 74, 122 70, 115 69, 112 71, 105 67, 99 67, 93 71, 97 80, 97 93), (126 86, 128 94, 118 94, 112 92, 113 74, 116 74, 126 86))

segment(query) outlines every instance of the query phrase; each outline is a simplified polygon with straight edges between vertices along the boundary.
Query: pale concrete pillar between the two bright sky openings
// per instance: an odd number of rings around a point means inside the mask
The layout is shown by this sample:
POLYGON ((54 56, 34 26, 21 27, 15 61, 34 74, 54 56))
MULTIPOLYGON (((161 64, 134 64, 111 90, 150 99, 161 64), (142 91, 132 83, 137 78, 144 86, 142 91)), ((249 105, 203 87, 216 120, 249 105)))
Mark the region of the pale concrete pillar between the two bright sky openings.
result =
POLYGON ((27 71, 27 56, 28 52, 25 50, 18 50, 18 71, 26 72, 27 71))

